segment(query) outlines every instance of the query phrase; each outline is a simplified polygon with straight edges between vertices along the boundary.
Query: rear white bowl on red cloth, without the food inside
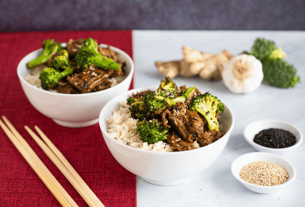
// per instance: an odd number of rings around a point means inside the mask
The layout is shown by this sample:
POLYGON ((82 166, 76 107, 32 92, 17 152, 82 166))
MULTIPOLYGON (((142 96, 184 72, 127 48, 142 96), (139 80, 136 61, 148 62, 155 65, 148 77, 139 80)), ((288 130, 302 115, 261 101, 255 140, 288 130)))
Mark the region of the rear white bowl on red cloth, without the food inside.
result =
MULTIPOLYGON (((101 45, 107 47, 107 45, 101 45)), ((41 114, 53 119, 65 127, 86 127, 99 121, 99 113, 103 106, 112 98, 126 92, 131 84, 135 66, 131 57, 124 51, 110 48, 119 53, 118 57, 126 61, 126 78, 118 85, 94 93, 62 94, 46 91, 28 83, 26 63, 38 57, 42 49, 35 50, 25 56, 17 67, 17 75, 27 99, 41 114)))

